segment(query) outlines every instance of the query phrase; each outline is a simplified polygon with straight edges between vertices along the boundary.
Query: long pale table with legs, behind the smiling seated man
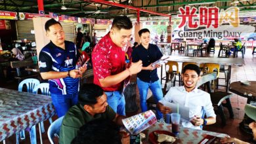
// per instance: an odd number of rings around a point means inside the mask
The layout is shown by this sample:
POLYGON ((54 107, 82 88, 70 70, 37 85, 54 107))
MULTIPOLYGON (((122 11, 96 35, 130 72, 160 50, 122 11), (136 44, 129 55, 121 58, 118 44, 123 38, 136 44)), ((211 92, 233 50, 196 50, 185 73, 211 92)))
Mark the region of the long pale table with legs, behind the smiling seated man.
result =
MULTIPOLYGON (((227 65, 228 66, 228 75, 226 81, 226 91, 228 90, 228 86, 230 84, 231 77, 231 66, 232 65, 244 65, 243 58, 215 58, 215 57, 190 57, 190 56, 169 56, 167 61, 175 61, 175 62, 195 62, 195 63, 219 63, 219 65, 227 65)), ((161 83, 162 83, 162 74, 163 67, 161 67, 161 83)))

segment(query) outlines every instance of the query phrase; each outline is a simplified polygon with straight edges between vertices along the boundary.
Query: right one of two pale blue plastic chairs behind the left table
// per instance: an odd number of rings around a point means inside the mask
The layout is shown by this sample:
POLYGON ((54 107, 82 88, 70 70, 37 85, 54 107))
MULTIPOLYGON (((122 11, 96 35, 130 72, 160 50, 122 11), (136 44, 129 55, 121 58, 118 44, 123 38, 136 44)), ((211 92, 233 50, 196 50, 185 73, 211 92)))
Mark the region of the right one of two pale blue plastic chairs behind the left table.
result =
MULTIPOLYGON (((41 94, 45 95, 45 96, 50 96, 50 92, 49 92, 49 83, 41 83, 41 84, 38 84, 37 86, 35 86, 35 88, 33 88, 33 94, 38 94, 38 90, 41 91, 41 94)), ((52 118, 49 118, 49 122, 50 124, 53 123, 53 120, 52 118)), ((39 131, 41 131, 39 134, 40 134, 40 140, 42 140, 42 135, 41 133, 44 133, 45 132, 45 126, 43 124, 43 122, 40 122, 40 124, 38 124, 39 126, 39 131)))

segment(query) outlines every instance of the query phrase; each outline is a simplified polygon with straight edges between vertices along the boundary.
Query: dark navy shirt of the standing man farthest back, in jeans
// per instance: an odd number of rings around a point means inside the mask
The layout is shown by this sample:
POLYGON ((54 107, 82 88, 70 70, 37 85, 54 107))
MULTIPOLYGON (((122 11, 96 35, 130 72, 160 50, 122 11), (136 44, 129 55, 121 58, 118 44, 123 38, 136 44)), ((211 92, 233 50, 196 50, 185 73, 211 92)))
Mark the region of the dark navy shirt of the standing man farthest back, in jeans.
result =
MULTIPOLYGON (((160 49, 156 45, 150 44, 148 49, 144 48, 142 45, 139 45, 137 48, 133 49, 132 60, 133 62, 142 60, 142 66, 147 67, 151 63, 160 60, 162 56, 163 54, 161 54, 160 49)), ((139 79, 144 82, 158 81, 157 69, 154 69, 153 71, 142 70, 137 74, 137 77, 139 77, 139 79)))

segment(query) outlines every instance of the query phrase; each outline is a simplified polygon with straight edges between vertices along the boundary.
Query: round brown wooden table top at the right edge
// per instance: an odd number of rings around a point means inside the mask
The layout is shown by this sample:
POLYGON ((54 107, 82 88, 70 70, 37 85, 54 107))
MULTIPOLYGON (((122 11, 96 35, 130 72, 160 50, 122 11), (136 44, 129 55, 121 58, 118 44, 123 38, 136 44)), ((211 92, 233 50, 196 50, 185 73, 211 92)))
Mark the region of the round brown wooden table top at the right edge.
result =
POLYGON ((239 96, 248 97, 248 94, 252 94, 252 97, 256 98, 256 81, 249 81, 250 85, 244 85, 240 81, 232 82, 229 86, 230 92, 234 92, 239 96), (246 94, 245 94, 246 92, 246 94))

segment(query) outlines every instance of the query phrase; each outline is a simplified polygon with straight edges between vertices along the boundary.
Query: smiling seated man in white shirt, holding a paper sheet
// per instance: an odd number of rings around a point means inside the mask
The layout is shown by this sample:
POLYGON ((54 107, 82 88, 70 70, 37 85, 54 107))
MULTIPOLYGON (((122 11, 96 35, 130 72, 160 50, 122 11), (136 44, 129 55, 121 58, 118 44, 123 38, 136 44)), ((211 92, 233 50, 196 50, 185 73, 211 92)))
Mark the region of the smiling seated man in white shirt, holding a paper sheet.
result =
POLYGON ((188 107, 190 120, 181 118, 182 126, 198 130, 202 130, 202 125, 216 122, 210 94, 196 88, 200 72, 198 65, 186 65, 181 75, 184 86, 171 87, 165 97, 158 102, 158 108, 163 114, 171 113, 171 108, 163 105, 165 102, 179 103, 183 107, 188 107), (202 117, 203 113, 207 118, 202 117))

